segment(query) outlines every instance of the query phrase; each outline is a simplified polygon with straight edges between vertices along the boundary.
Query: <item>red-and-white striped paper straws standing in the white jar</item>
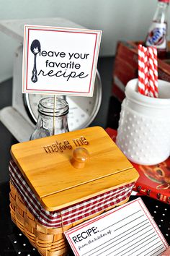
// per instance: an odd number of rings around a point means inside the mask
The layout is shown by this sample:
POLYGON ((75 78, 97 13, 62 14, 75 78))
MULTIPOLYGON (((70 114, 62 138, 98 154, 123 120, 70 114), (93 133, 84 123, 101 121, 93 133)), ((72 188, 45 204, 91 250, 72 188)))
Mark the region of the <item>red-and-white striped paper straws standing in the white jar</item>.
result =
POLYGON ((138 45, 138 92, 158 98, 157 49, 138 45))

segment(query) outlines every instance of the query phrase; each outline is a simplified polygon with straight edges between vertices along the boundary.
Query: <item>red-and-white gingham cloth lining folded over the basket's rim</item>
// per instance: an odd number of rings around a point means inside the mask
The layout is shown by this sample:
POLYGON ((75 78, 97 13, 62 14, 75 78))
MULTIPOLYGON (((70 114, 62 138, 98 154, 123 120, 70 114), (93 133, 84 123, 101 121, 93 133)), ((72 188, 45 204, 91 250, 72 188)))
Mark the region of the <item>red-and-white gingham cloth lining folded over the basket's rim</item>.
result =
POLYGON ((17 189, 17 192, 19 192, 19 195, 22 197, 27 209, 30 210, 30 213, 32 213, 42 225, 53 228, 69 225, 122 202, 130 196, 135 184, 135 182, 132 182, 125 186, 118 187, 117 189, 112 189, 109 192, 105 192, 102 195, 91 197, 89 200, 84 200, 75 205, 63 208, 60 211, 55 210, 50 212, 45 210, 37 200, 13 160, 9 162, 9 174, 12 184, 17 189))

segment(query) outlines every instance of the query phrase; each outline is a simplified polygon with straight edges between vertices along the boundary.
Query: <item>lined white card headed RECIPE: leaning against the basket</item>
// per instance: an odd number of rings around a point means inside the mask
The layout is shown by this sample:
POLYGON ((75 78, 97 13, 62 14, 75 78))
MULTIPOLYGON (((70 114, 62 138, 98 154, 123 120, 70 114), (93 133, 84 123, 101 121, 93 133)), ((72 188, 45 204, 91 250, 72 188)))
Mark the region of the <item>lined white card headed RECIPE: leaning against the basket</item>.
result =
POLYGON ((65 232, 76 256, 158 256, 169 245, 141 198, 65 232))

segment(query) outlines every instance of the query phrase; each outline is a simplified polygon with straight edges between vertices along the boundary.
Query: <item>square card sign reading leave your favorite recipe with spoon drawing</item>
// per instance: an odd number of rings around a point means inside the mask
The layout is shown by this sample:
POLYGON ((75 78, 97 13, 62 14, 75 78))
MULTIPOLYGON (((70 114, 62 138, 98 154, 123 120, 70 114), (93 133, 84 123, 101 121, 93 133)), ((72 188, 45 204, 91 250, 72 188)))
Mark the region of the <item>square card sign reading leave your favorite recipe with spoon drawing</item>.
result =
POLYGON ((102 31, 24 25, 22 93, 92 96, 102 31))

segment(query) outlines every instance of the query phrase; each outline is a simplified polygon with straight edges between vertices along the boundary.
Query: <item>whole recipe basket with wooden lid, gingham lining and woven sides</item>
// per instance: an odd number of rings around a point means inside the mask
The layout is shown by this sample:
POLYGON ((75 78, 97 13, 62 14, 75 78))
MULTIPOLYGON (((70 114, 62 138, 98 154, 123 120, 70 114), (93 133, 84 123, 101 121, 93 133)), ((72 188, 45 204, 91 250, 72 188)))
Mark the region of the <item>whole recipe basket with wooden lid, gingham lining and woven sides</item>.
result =
POLYGON ((12 220, 41 255, 66 255, 63 231, 127 202, 138 172, 101 127, 12 145, 12 220))

